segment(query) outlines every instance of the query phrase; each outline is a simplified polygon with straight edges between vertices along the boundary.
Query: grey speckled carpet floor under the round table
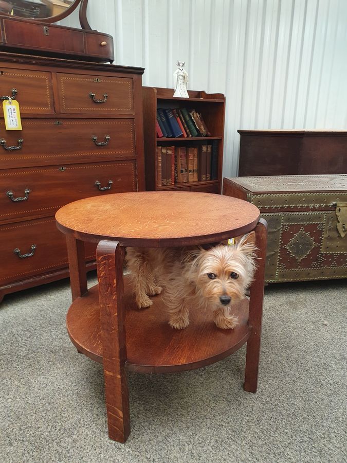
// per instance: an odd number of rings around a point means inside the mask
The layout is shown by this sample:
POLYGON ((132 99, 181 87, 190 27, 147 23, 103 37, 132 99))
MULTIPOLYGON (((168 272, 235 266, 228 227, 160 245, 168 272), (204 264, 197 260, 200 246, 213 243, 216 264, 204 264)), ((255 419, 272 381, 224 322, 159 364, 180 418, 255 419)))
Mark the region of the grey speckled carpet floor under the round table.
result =
POLYGON ((242 388, 245 346, 198 370, 130 373, 125 444, 107 437, 102 367, 70 343, 69 305, 63 280, 0 306, 2 462, 347 461, 345 280, 266 288, 257 394, 242 388))

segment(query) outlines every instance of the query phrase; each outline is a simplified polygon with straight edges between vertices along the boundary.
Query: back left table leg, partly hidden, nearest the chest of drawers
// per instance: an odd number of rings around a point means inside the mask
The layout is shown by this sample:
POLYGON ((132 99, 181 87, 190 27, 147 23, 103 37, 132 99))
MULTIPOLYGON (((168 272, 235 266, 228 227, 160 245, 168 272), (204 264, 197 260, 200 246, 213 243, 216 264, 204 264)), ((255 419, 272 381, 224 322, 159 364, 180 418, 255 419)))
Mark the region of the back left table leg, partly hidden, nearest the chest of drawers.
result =
POLYGON ((67 235, 66 245, 69 259, 72 300, 75 300, 88 290, 84 242, 77 240, 71 235, 67 235))

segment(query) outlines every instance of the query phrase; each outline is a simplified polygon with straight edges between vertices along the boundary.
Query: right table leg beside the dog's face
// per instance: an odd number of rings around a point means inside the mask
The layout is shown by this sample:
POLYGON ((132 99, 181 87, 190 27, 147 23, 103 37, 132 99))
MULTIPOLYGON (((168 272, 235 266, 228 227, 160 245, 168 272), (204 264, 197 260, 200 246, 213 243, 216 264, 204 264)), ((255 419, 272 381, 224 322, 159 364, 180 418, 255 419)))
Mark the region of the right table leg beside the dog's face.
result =
POLYGON ((252 333, 247 341, 246 373, 244 389, 249 392, 257 392, 258 366, 260 357, 260 338, 262 331, 263 299, 265 261, 267 245, 267 222, 260 219, 255 231, 255 245, 257 252, 257 270, 249 294, 248 323, 252 327, 252 333))

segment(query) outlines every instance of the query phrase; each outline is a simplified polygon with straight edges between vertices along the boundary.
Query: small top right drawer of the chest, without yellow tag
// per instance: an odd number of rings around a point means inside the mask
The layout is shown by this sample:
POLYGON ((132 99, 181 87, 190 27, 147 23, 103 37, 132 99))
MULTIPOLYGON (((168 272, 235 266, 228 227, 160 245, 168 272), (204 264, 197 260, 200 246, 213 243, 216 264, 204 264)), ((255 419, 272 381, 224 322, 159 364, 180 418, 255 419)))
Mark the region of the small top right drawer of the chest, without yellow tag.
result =
POLYGON ((134 113, 133 79, 57 73, 60 112, 134 113))

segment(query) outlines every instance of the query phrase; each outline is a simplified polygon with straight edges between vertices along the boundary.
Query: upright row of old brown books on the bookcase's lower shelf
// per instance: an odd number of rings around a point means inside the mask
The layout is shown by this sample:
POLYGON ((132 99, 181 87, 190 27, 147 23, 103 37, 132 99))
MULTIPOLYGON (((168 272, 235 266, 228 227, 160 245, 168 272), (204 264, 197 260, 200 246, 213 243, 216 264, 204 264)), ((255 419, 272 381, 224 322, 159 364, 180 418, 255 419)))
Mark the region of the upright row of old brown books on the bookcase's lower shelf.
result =
POLYGON ((218 142, 198 146, 158 146, 157 185, 218 178, 218 142))

